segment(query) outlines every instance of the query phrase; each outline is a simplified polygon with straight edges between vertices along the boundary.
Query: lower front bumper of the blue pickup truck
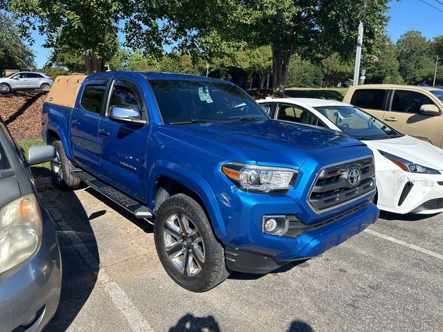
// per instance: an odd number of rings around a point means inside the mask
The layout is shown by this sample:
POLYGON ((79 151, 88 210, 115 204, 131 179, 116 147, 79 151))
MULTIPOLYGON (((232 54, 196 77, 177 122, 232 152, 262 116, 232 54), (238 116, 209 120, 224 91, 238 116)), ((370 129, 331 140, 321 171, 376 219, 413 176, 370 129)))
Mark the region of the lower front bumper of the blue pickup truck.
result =
MULTIPOLYGON (((318 227, 313 226, 311 231, 305 232, 296 239, 280 237, 280 241, 290 248, 287 251, 275 252, 275 249, 251 245, 248 247, 226 246, 226 266, 230 270, 244 273, 269 273, 289 261, 307 259, 323 254, 326 250, 338 246, 355 234, 358 234, 369 225, 377 221, 379 210, 372 203, 365 203, 343 217, 325 223, 318 227), (244 249, 246 248, 246 249, 244 249), (273 252, 276 255, 269 255, 273 252)), ((263 237, 275 237, 262 234, 263 237)))

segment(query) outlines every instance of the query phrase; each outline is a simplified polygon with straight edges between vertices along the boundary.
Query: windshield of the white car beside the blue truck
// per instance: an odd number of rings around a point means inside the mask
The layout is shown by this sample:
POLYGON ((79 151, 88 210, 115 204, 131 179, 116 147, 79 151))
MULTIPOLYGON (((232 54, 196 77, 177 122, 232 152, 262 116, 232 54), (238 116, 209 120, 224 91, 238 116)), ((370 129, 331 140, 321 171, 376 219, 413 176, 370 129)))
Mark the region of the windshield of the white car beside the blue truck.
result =
POLYGON ((334 123, 341 131, 359 140, 379 140, 402 136, 377 118, 352 106, 316 107, 317 111, 334 123))

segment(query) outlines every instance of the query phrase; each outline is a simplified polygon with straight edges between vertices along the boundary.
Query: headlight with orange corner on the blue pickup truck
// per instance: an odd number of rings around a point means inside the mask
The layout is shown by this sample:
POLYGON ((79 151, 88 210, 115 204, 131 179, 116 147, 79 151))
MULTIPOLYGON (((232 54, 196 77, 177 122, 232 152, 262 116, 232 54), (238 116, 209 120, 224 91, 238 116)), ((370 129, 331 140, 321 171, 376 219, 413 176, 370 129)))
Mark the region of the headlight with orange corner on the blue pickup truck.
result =
POLYGON ((295 169, 240 163, 222 165, 221 173, 246 192, 264 193, 291 189, 298 175, 295 169))

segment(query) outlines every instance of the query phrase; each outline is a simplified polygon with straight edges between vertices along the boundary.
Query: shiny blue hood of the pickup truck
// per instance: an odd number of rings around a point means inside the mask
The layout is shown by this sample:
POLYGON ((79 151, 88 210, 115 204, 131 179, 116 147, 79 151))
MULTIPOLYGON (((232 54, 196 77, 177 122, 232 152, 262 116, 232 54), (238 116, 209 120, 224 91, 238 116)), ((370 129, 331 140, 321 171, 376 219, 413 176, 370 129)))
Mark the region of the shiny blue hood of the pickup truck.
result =
POLYGON ((321 156, 332 149, 363 145, 340 131, 277 120, 174 124, 164 128, 175 131, 171 136, 217 154, 221 160, 230 160, 236 156, 235 150, 241 150, 245 158, 259 165, 300 167, 312 154, 321 156))

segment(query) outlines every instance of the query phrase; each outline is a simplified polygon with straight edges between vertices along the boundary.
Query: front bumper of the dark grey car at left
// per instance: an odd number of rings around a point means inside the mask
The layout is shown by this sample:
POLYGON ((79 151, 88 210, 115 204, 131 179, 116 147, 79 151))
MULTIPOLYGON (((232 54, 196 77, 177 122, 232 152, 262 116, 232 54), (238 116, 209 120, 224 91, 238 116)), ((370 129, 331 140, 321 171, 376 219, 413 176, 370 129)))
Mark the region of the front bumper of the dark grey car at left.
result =
POLYGON ((62 284, 60 249, 51 218, 42 208, 43 237, 27 261, 0 275, 0 331, 38 332, 57 311, 62 284), (35 319, 32 320, 32 317, 35 319), (21 326, 28 322, 26 326, 21 326))

